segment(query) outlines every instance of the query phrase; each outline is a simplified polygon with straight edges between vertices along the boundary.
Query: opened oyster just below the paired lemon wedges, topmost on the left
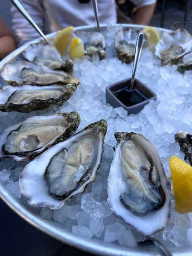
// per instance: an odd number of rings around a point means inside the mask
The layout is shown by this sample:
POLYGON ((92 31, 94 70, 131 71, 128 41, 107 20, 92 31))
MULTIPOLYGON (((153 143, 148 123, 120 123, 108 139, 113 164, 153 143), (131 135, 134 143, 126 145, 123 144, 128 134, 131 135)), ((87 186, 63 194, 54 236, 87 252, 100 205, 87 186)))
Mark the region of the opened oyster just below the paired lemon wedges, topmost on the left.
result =
POLYGON ((37 64, 44 64, 44 66, 52 70, 63 70, 70 74, 73 73, 73 61, 64 61, 58 50, 50 44, 30 44, 23 52, 23 57, 37 64))

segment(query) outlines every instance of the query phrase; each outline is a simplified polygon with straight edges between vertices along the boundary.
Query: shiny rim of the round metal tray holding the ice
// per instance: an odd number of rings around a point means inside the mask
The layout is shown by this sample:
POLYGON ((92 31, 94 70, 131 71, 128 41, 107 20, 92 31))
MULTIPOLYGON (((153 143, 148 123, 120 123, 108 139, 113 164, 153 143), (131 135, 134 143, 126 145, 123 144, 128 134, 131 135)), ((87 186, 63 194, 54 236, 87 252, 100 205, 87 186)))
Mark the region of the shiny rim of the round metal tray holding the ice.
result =
MULTIPOLYGON (((134 27, 134 28, 143 28, 145 26, 137 26, 132 24, 123 24, 124 27, 134 27)), ((106 26, 101 26, 102 29, 106 29, 106 26)), ((165 31, 166 29, 161 29, 165 31)), ((94 26, 81 26, 77 27, 76 31, 96 31, 94 26)), ((47 35, 47 38, 51 41, 55 32, 47 35)), ((31 43, 37 43, 41 39, 32 41, 31 43)), ((15 58, 27 47, 28 44, 18 48, 3 61, 0 62, 0 70, 3 65, 14 61, 15 58)), ((29 224, 38 228, 42 232, 46 233, 49 236, 52 236, 59 241, 66 243, 70 246, 77 247, 81 250, 96 254, 96 255, 108 255, 108 256, 159 256, 155 247, 142 247, 142 248, 128 248, 120 245, 105 243, 99 239, 84 239, 78 236, 75 236, 73 233, 65 230, 64 227, 59 226, 53 221, 43 220, 32 207, 28 207, 25 204, 22 204, 20 199, 15 198, 6 187, 0 183, 0 198, 21 218, 27 221, 29 224)), ((192 256, 192 247, 187 248, 169 248, 174 256, 192 256)))

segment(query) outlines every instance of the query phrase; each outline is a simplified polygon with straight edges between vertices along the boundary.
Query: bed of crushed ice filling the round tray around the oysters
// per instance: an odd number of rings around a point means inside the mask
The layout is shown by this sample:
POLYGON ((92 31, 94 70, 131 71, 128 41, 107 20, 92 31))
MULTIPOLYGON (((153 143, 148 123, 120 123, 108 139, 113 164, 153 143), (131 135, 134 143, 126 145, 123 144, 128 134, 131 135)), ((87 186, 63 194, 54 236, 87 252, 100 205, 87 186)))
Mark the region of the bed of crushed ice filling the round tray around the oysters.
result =
MULTIPOLYGON (((78 131, 101 118, 107 120, 108 132, 102 165, 96 180, 87 186, 83 194, 74 196, 61 209, 34 210, 43 219, 58 222, 76 236, 87 239, 96 237, 105 242, 137 247, 137 242, 143 241, 145 237, 113 215, 107 204, 107 178, 114 154, 112 147, 116 145, 114 132, 142 133, 156 146, 166 175, 170 177, 169 157, 184 157, 179 151, 179 145, 175 143, 174 135, 179 130, 192 133, 192 71, 182 75, 177 72, 176 66, 161 67, 153 53, 143 49, 136 77, 157 94, 157 101, 151 101, 137 115, 128 116, 123 108, 113 109, 105 101, 105 88, 116 81, 130 78, 133 65, 122 64, 116 58, 114 30, 111 26, 106 33, 107 58, 100 62, 97 59, 92 61, 88 57, 74 61, 74 75, 81 80, 81 84, 68 102, 59 109, 63 112, 79 112, 81 124, 78 131)), ((54 112, 54 108, 28 114, 0 112, 0 131, 29 116, 54 112)), ((26 162, 11 159, 2 159, 0 162, 0 182, 4 183, 10 193, 20 198, 21 204, 27 204, 18 184, 20 172, 25 165, 26 162)), ((154 237, 169 247, 192 246, 192 212, 181 215, 175 212, 173 203, 169 223, 154 237)))

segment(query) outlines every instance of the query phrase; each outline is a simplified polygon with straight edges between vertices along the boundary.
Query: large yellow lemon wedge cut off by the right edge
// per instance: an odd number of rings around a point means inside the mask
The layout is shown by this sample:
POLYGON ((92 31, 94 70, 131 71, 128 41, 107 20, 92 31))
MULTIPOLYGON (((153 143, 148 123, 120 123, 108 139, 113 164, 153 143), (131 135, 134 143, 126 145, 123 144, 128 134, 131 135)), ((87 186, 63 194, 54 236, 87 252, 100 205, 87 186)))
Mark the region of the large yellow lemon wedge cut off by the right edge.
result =
POLYGON ((177 212, 192 212, 192 167, 179 157, 169 158, 177 212))

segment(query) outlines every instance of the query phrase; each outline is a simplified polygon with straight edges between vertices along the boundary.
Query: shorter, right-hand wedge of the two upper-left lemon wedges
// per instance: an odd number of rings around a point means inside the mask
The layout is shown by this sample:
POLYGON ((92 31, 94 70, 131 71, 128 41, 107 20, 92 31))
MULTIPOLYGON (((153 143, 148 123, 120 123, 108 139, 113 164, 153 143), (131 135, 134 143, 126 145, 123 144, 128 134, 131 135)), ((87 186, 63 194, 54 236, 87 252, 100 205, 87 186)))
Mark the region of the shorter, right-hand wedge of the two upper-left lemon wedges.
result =
POLYGON ((75 58, 82 58, 84 56, 84 44, 80 38, 74 38, 70 47, 70 57, 72 60, 75 58))

